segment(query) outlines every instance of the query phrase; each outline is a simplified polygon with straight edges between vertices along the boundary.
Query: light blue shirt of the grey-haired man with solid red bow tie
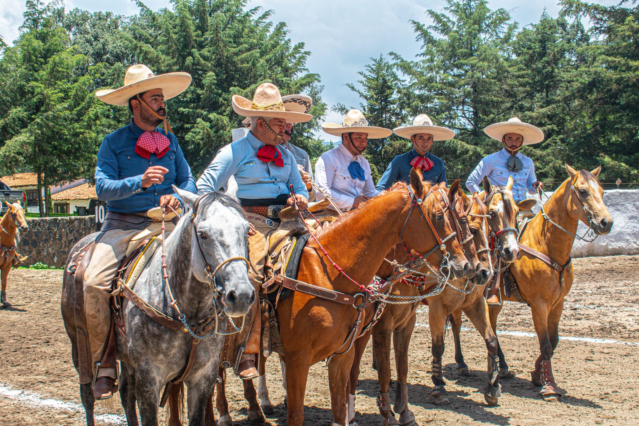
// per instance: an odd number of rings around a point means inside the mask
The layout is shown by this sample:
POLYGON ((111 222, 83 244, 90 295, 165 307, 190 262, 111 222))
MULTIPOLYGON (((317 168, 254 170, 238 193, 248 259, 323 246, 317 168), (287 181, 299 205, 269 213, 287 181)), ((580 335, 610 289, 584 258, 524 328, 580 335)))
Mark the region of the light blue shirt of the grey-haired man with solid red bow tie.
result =
POLYGON ((274 161, 264 162, 258 158, 258 149, 264 145, 249 132, 245 137, 222 147, 197 179, 197 190, 200 193, 217 191, 226 185, 231 176, 235 176, 240 199, 274 199, 278 195, 288 194, 291 184, 295 194, 308 199, 309 192, 293 154, 283 146, 277 146, 284 161, 284 167, 280 167, 274 161))

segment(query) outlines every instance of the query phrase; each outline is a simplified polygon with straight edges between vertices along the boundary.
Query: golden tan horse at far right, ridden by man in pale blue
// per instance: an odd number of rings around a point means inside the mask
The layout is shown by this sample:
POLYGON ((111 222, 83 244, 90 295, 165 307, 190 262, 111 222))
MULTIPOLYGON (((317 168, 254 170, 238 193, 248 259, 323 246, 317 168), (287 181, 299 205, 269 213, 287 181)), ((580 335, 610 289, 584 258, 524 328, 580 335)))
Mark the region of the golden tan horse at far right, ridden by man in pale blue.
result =
MULTIPOLYGON (((597 181, 601 166, 589 172, 576 171, 566 164, 566 171, 569 178, 555 190, 543 210, 530 220, 522 232, 522 257, 510 266, 521 296, 532 311, 541 354, 530 375, 534 384, 542 386, 539 393, 544 400, 560 397, 551 358, 559 342, 564 297, 573 285, 570 251, 575 238, 583 239, 576 235, 577 225, 581 221, 595 234, 606 235, 613 224, 603 202, 603 188, 597 181)), ((512 296, 506 297, 503 285, 501 291, 503 300, 518 301, 512 296)), ((489 308, 493 330, 497 329, 497 316, 501 310, 500 306, 489 308)), ((508 365, 501 347, 498 347, 498 354, 500 373, 508 376, 508 365)))

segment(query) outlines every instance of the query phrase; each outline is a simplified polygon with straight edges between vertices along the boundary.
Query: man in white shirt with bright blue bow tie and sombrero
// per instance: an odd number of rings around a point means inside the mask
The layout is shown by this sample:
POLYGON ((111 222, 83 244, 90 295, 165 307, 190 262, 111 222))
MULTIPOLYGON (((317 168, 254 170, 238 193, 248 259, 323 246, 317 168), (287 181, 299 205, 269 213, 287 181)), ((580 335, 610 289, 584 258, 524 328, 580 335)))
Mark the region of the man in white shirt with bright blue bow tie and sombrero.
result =
MULTIPOLYGON (((380 194, 373 185, 371 165, 362 153, 369 138, 388 137, 392 130, 369 126, 364 114, 357 109, 348 111, 341 125, 323 123, 321 128, 329 135, 342 138, 339 146, 323 153, 315 164, 315 181, 325 194, 330 195, 335 206, 348 211, 380 194)), ((324 195, 318 194, 318 199, 324 199, 324 195)))

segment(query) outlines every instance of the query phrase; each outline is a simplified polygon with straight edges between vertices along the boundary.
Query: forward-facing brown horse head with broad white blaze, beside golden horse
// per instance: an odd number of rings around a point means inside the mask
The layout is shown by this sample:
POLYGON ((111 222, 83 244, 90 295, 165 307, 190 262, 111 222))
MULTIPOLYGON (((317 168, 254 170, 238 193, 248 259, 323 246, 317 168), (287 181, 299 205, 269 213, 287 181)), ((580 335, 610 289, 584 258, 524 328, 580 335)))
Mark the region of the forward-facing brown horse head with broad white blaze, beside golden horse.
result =
POLYGON ((508 178, 504 188, 491 185, 488 178, 484 177, 482 188, 484 191, 479 196, 488 208, 491 239, 495 240, 497 250, 504 262, 512 263, 519 254, 516 238, 519 208, 512 198, 512 176, 508 178))

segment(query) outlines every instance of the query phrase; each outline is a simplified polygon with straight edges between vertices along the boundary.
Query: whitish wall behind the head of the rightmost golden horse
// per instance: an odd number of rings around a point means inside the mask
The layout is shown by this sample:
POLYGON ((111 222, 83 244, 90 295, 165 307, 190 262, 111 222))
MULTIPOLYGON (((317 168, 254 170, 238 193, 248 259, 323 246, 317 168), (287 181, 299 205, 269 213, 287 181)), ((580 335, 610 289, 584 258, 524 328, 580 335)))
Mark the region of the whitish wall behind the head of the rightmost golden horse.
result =
MULTIPOLYGON (((551 192, 546 192, 550 197, 551 192)), ((546 201, 546 197, 544 197, 546 201)), ((573 257, 611 256, 639 254, 639 190, 604 191, 603 201, 615 221, 610 234, 597 237, 592 243, 575 240, 573 257)), ((539 211, 537 204, 533 211, 539 211)), ((579 222, 578 235, 583 235, 588 227, 579 222)))

